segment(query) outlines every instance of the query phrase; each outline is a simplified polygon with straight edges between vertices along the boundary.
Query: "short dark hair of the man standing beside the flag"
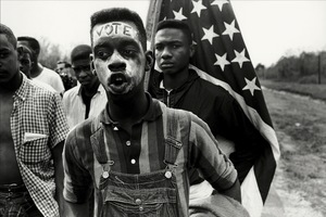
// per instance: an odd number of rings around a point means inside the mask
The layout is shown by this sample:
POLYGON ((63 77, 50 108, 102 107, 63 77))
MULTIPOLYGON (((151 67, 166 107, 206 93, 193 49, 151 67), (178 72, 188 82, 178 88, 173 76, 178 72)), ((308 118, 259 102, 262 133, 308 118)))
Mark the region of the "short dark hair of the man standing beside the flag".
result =
POLYGON ((178 20, 161 21, 158 23, 155 33, 158 33, 159 30, 164 29, 164 28, 180 29, 186 35, 189 43, 192 43, 192 31, 187 23, 185 23, 183 21, 178 21, 178 20))

